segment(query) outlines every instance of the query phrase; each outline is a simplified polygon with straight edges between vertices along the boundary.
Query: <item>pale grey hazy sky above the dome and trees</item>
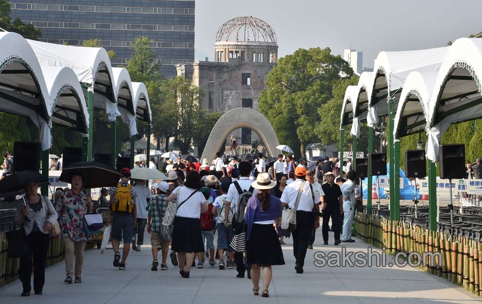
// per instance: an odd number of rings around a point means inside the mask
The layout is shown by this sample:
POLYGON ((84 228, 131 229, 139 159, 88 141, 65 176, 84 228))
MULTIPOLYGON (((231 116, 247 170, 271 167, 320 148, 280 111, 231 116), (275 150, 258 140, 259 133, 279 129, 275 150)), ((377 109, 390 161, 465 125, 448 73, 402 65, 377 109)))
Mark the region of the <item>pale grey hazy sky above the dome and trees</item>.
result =
POLYGON ((363 51, 373 67, 380 51, 445 46, 482 31, 482 0, 196 0, 195 59, 214 61, 219 27, 231 18, 266 21, 278 37, 278 57, 299 48, 363 51))

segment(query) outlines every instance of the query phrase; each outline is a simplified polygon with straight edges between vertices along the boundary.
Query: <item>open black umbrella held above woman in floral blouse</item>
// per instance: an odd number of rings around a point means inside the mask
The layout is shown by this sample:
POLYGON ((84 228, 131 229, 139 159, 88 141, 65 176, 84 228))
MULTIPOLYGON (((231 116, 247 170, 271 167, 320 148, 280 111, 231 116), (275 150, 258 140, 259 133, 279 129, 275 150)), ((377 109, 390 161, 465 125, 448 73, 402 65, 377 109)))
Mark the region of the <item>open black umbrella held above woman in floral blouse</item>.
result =
POLYGON ((76 162, 63 168, 59 180, 71 182, 72 175, 75 174, 82 175, 84 178, 83 187, 86 189, 113 187, 117 185, 121 178, 119 172, 112 170, 106 165, 96 162, 76 162))

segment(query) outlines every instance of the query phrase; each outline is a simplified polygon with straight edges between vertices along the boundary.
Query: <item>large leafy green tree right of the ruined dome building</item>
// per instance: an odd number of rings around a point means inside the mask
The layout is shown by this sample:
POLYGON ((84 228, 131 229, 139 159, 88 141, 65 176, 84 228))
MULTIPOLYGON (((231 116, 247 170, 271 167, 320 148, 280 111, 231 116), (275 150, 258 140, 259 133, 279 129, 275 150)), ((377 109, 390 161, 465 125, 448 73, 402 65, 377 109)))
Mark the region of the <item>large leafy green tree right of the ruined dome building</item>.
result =
POLYGON ((304 156, 306 144, 318 141, 314 128, 320 120, 318 108, 331 99, 335 81, 352 74, 348 62, 332 55, 329 48, 299 49, 281 58, 269 72, 267 89, 258 99, 259 110, 271 125, 280 115, 292 119, 304 156))

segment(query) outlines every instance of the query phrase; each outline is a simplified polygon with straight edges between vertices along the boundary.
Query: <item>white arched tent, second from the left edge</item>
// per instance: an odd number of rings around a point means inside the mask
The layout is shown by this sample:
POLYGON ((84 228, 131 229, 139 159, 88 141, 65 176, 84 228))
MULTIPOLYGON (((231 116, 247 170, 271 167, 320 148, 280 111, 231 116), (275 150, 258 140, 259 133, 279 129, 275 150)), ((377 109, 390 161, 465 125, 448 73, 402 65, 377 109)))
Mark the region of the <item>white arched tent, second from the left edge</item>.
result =
POLYGON ((52 123, 87 134, 89 113, 77 75, 68 67, 41 68, 53 104, 52 123))

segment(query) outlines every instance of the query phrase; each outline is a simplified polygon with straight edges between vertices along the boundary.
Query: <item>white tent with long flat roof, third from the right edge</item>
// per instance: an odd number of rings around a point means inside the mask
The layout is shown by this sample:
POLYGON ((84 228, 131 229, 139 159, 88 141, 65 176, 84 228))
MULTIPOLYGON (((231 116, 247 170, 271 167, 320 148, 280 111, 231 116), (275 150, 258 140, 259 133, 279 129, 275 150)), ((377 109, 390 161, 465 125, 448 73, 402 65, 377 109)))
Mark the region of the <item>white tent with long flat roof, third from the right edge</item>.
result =
POLYGON ((412 71, 436 72, 440 68, 442 59, 449 47, 403 51, 403 52, 380 52, 375 59, 374 77, 372 85, 372 97, 369 104, 367 122, 370 127, 378 123, 379 115, 388 113, 386 101, 389 94, 394 100, 394 109, 397 108, 398 97, 408 74, 412 71))

